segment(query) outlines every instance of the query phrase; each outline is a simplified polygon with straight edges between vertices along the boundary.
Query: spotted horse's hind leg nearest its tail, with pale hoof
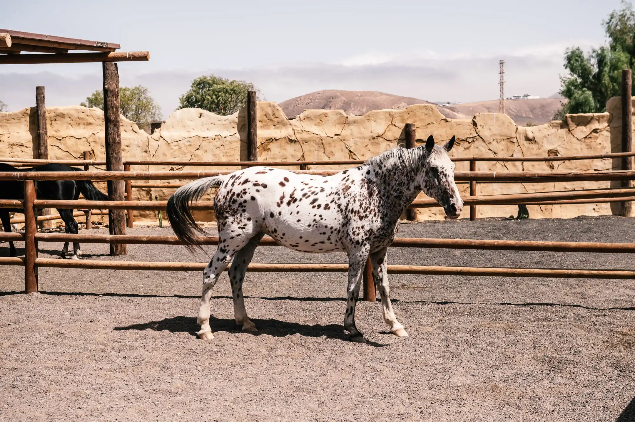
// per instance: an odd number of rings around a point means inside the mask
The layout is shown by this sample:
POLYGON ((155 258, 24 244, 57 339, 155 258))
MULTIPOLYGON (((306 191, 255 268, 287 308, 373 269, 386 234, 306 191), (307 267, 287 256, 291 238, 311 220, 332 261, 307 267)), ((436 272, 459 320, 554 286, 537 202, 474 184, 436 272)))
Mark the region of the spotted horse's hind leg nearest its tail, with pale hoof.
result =
MULTIPOLYGON (((220 225, 219 225, 220 227, 220 225)), ((245 235, 236 234, 228 235, 227 232, 219 233, 218 249, 211 258, 210 263, 203 270, 203 294, 201 294, 201 306, 199 307, 199 314, 196 322, 201 326, 201 330, 197 333, 199 338, 203 340, 210 340, 214 338, 211 334, 210 327, 210 298, 211 289, 218 281, 220 274, 227 268, 227 265, 232 261, 232 258, 238 251, 249 241, 249 237, 245 235), (233 237, 234 239, 229 239, 233 237)))

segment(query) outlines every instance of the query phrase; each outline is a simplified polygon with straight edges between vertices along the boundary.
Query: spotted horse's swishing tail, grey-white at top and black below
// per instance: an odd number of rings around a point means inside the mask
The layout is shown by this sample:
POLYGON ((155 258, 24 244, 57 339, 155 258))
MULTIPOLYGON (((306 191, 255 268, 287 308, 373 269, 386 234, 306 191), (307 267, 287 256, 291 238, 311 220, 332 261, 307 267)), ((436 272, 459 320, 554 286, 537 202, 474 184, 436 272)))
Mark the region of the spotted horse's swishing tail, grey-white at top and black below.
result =
POLYGON ((177 192, 168 199, 168 220, 172 230, 190 252, 194 252, 195 247, 203 249, 198 235, 206 235, 206 232, 197 225, 190 212, 189 204, 201 199, 205 192, 212 186, 220 185, 223 180, 224 176, 213 176, 192 181, 178 188, 177 192))

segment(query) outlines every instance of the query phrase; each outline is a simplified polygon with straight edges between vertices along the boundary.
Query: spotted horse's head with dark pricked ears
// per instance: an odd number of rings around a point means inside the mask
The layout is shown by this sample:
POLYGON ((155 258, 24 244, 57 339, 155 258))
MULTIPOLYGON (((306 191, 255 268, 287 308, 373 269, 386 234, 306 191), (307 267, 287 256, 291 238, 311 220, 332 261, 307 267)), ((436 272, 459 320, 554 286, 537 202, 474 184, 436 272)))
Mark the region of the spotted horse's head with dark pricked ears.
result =
POLYGON ((425 162, 418 174, 421 190, 431 198, 436 199, 449 218, 458 218, 463 211, 463 200, 458 194, 457 184, 454 183, 454 163, 448 152, 454 146, 455 137, 443 147, 434 145, 434 138, 430 135, 425 142, 425 162))

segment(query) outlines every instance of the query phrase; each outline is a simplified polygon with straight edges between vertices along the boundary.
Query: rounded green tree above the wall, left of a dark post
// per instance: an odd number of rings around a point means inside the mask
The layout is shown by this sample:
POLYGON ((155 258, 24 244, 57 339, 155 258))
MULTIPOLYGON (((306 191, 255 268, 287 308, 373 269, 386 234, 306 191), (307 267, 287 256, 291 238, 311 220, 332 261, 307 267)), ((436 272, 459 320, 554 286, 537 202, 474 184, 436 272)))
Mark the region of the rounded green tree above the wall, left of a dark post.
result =
POLYGON ((230 115, 247 103, 247 91, 257 91, 250 82, 230 81, 214 75, 197 77, 178 99, 179 109, 194 107, 218 115, 230 115))

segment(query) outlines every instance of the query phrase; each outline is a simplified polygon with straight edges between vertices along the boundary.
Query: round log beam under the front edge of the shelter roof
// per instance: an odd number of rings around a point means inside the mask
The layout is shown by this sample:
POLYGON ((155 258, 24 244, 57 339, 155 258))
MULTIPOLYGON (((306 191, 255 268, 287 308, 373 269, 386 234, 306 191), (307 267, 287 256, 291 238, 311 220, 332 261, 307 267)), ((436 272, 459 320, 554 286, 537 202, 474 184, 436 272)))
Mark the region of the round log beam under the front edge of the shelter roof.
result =
POLYGON ((1 56, 0 65, 34 65, 42 63, 147 62, 148 51, 114 53, 25 54, 1 56))

